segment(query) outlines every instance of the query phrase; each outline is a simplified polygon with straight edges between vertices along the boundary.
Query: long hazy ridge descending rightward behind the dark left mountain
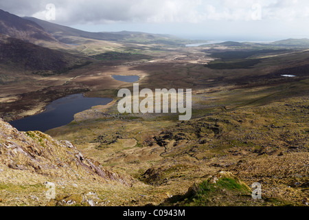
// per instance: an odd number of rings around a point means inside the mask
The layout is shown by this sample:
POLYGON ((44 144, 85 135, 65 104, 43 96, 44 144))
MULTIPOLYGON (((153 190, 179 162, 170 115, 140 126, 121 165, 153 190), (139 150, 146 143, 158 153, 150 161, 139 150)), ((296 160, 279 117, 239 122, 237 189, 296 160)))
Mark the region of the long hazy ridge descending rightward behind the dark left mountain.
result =
POLYGON ((34 17, 24 17, 23 19, 37 23, 44 28, 49 34, 52 34, 58 41, 62 43, 75 43, 79 37, 84 39, 95 39, 101 41, 119 41, 124 43, 163 43, 170 45, 181 45, 183 39, 163 34, 148 34, 143 32, 86 32, 75 28, 69 28, 64 25, 50 23, 34 17))

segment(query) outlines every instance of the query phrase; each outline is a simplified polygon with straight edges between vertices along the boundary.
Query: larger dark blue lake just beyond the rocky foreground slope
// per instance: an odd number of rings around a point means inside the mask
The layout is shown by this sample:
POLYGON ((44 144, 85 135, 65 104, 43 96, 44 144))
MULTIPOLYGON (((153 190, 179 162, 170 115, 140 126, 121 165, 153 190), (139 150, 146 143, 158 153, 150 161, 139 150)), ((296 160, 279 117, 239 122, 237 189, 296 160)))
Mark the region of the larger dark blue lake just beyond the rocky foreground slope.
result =
POLYGON ((19 131, 42 131, 69 124, 74 115, 91 109, 93 106, 106 105, 111 98, 87 98, 83 94, 74 94, 55 100, 45 107, 45 111, 37 115, 10 122, 19 131))

